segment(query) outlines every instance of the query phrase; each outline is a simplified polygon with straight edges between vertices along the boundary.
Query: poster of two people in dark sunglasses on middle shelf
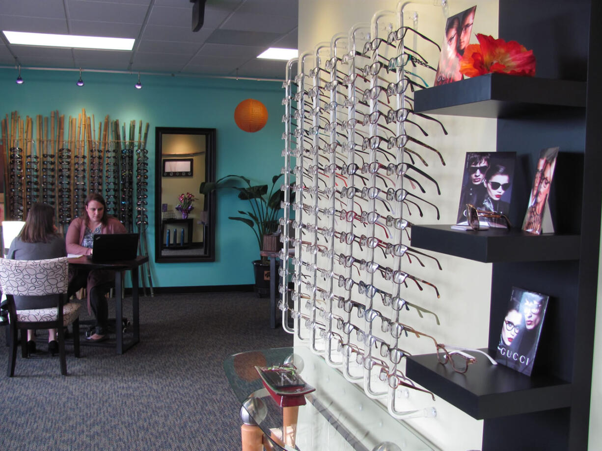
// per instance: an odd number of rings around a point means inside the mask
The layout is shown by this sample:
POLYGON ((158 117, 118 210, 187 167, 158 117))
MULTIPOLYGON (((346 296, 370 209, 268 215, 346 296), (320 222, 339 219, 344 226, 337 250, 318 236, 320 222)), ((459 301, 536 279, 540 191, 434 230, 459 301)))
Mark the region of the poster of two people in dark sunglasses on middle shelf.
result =
MULTIPOLYGON (((467 152, 458 206, 458 224, 468 224, 467 204, 473 205, 477 210, 508 215, 515 159, 516 152, 467 152)), ((507 222, 495 215, 483 215, 479 221, 483 222, 481 229, 507 227, 507 222)))

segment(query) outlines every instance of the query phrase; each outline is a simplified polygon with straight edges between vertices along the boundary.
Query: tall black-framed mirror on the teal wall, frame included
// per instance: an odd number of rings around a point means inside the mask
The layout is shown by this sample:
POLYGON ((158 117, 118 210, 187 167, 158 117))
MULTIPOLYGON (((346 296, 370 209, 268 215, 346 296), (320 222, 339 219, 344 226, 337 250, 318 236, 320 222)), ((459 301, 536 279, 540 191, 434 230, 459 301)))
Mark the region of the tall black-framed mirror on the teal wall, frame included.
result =
POLYGON ((157 127, 155 146, 155 262, 213 262, 216 129, 157 127))

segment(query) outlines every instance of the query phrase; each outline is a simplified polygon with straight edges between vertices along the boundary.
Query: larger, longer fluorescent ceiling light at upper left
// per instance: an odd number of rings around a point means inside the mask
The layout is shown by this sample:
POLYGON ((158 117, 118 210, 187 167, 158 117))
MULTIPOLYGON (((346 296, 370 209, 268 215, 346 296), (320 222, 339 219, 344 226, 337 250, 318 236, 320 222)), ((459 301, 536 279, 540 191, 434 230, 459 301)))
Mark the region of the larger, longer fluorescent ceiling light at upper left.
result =
POLYGON ((129 50, 134 48, 132 38, 77 36, 72 34, 26 33, 2 31, 11 44, 73 49, 129 50))

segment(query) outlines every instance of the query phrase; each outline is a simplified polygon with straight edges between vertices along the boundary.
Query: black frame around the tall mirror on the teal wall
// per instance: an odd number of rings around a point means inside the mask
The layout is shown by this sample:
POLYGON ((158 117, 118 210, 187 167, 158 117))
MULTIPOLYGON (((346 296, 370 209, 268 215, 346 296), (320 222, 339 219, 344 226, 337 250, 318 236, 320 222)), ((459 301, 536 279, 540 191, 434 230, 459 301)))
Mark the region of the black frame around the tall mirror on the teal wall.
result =
MULTIPOLYGON (((206 253, 202 256, 161 256, 161 192, 163 185, 163 155, 161 145, 163 135, 205 135, 205 180, 216 181, 216 129, 196 127, 155 127, 155 262, 157 263, 181 263, 181 262, 214 262, 216 260, 216 194, 211 192, 206 195, 208 212, 208 230, 205 240, 206 253)), ((199 187, 196 186, 193 194, 197 194, 199 187)))

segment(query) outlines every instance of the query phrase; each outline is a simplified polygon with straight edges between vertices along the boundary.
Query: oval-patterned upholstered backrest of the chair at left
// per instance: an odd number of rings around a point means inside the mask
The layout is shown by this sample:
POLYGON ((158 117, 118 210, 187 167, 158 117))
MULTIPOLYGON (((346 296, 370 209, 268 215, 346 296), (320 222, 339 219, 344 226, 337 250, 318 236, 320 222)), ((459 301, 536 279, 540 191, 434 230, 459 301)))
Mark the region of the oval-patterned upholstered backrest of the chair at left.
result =
POLYGON ((46 260, 0 259, 0 286, 7 295, 42 296, 66 293, 67 257, 46 260))

